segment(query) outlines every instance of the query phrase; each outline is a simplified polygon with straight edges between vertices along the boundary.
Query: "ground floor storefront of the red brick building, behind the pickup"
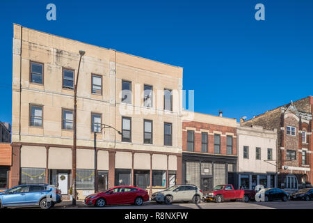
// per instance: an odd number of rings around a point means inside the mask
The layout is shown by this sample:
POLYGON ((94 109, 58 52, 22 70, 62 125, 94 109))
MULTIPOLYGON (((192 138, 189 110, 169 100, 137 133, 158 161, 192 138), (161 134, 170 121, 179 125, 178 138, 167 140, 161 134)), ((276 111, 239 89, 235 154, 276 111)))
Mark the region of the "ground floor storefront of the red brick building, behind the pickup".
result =
POLYGON ((182 183, 212 190, 216 185, 231 183, 236 187, 236 156, 183 153, 182 183))

